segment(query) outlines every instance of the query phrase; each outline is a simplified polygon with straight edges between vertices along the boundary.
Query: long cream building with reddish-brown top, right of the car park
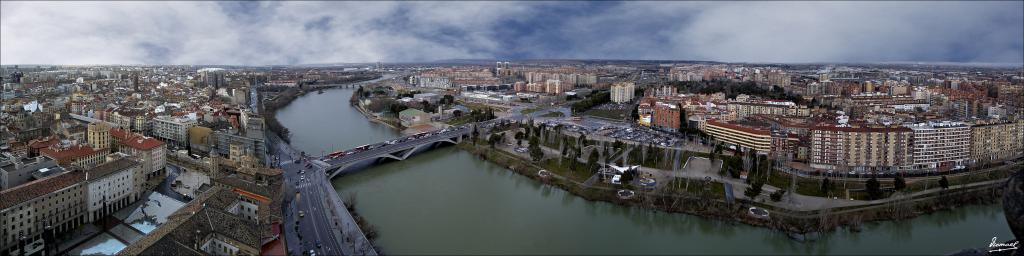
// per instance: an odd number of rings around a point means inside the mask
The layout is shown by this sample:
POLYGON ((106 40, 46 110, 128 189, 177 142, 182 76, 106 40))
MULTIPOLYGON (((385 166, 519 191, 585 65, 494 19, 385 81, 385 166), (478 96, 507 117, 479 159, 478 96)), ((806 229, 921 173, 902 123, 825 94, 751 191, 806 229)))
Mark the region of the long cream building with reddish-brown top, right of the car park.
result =
POLYGON ((758 154, 771 153, 771 130, 735 123, 709 120, 705 132, 713 138, 736 146, 737 151, 754 150, 758 154))

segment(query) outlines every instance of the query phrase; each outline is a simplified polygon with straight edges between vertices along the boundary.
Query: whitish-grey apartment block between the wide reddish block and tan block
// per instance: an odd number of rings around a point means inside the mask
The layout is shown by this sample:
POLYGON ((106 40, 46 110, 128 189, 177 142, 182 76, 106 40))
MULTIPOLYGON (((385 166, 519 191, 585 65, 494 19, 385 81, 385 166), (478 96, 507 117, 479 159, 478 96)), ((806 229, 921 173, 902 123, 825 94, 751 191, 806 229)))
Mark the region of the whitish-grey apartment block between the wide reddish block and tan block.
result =
POLYGON ((913 130, 913 169, 945 171, 968 164, 971 127, 959 122, 927 122, 907 125, 913 130))

